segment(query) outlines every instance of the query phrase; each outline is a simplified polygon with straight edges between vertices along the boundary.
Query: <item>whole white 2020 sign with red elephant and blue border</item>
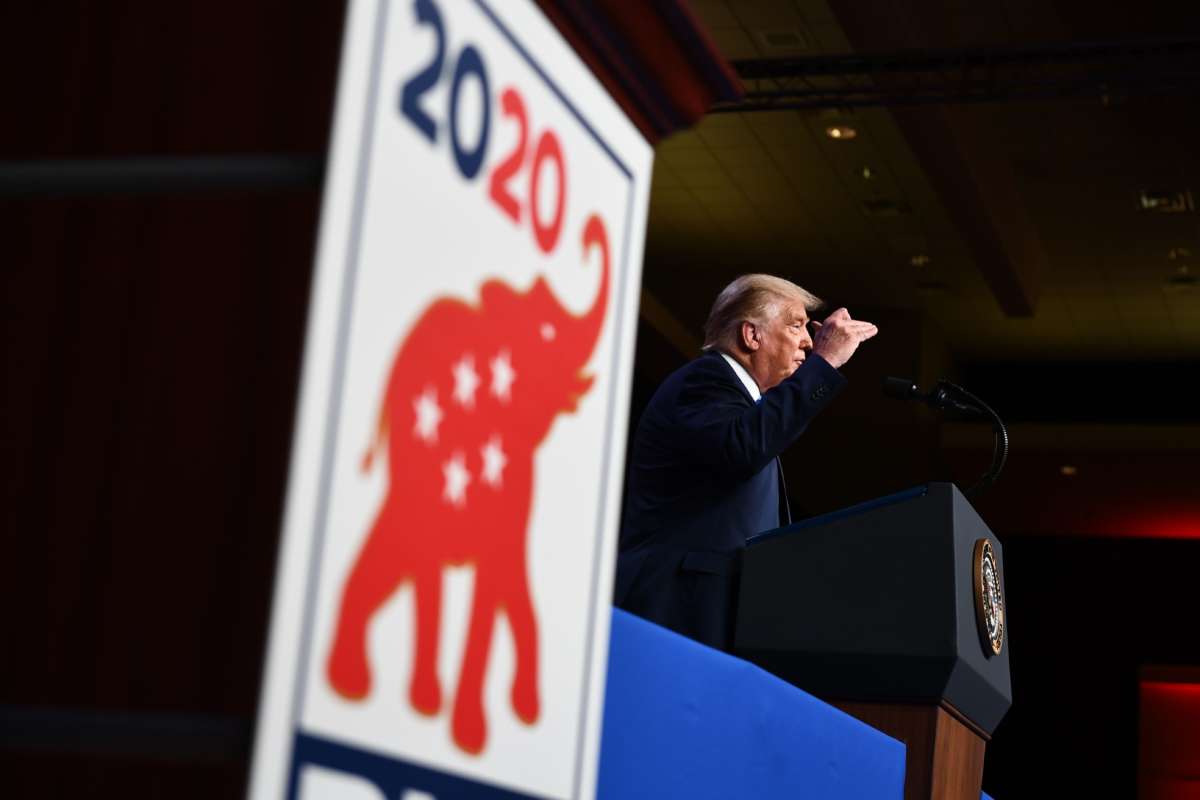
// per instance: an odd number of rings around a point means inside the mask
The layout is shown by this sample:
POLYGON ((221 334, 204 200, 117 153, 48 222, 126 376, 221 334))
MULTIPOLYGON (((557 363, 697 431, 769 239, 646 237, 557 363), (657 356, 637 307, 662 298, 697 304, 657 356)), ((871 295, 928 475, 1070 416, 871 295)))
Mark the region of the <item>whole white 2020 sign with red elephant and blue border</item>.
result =
POLYGON ((252 796, 594 793, 650 160, 532 4, 350 4, 252 796))

